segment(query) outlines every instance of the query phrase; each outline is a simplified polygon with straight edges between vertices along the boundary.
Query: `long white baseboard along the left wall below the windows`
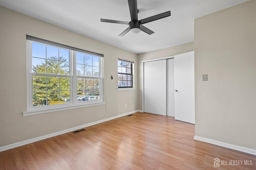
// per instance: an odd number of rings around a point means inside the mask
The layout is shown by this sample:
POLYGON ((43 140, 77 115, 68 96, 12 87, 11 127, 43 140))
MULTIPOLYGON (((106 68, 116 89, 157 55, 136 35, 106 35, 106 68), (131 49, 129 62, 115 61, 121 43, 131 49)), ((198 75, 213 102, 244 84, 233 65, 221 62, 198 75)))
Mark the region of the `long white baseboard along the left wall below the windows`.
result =
POLYGON ((69 129, 66 129, 66 130, 61 130, 61 131, 59 131, 59 132, 54 132, 54 133, 51 133, 51 134, 46 134, 46 135, 44 135, 44 136, 39 136, 39 137, 36 137, 36 138, 24 140, 24 141, 21 141, 21 142, 16 142, 16 143, 9 144, 9 145, 6 145, 6 146, 2 146, 2 147, 0 147, 0 152, 2 152, 2 151, 4 151, 4 150, 16 148, 16 147, 19 147, 19 146, 22 146, 22 145, 25 145, 25 144, 30 144, 30 143, 33 143, 33 142, 37 142, 37 141, 39 141, 39 140, 44 140, 44 139, 47 139, 47 138, 51 138, 51 137, 54 137, 54 136, 58 136, 58 135, 60 135, 60 134, 64 134, 64 133, 67 133, 67 132, 72 132, 72 131, 78 130, 78 129, 80 129, 80 128, 90 127, 90 126, 96 125, 96 124, 98 124, 98 123, 110 121, 110 120, 112 120, 112 119, 116 119, 116 118, 118 118, 118 117, 130 115, 130 114, 136 113, 136 112, 142 112, 142 111, 141 111, 141 110, 132 111, 132 112, 124 113, 124 114, 122 114, 122 115, 117 115, 117 116, 114 116, 114 117, 110 117, 110 118, 107 118, 107 119, 103 119, 103 120, 100 120, 100 121, 96 121, 96 122, 92 122, 92 123, 87 123, 87 124, 85 124, 85 125, 81 125, 81 126, 78 126, 78 127, 73 127, 73 128, 69 128, 69 129))

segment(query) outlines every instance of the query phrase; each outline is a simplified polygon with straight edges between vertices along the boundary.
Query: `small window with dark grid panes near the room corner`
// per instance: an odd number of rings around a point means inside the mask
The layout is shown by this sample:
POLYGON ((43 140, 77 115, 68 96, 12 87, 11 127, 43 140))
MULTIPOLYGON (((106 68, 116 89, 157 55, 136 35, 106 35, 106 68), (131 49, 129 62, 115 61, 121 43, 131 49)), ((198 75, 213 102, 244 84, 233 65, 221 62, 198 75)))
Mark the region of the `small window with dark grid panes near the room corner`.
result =
POLYGON ((132 61, 118 59, 118 88, 133 87, 132 61))

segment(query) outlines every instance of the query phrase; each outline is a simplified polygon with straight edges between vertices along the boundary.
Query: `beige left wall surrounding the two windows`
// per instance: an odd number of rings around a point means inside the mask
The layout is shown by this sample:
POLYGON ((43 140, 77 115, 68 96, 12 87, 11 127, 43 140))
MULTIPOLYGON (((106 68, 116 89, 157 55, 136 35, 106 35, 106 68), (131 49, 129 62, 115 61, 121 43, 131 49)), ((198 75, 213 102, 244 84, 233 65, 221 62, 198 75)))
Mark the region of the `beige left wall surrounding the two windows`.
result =
POLYGON ((117 59, 137 55, 0 6, 0 147, 138 109, 137 91, 117 91, 117 59), (106 105, 23 117, 26 111, 26 34, 104 54, 106 105), (110 79, 110 75, 114 79, 110 79), (125 108, 125 103, 128 107, 125 108))

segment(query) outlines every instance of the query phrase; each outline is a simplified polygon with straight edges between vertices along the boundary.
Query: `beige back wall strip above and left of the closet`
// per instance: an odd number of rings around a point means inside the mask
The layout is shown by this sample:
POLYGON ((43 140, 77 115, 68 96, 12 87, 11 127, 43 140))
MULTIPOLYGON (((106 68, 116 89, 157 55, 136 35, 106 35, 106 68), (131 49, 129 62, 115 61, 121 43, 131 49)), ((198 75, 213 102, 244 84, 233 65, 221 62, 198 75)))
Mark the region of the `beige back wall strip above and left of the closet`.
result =
POLYGON ((142 110, 142 83, 143 83, 143 73, 142 73, 142 61, 157 59, 162 57, 170 57, 173 55, 178 55, 181 53, 186 53, 189 51, 194 51, 194 43, 186 43, 182 45, 177 45, 174 47, 168 47, 164 49, 159 49, 156 51, 150 51, 147 53, 142 53, 138 55, 138 109, 142 110))

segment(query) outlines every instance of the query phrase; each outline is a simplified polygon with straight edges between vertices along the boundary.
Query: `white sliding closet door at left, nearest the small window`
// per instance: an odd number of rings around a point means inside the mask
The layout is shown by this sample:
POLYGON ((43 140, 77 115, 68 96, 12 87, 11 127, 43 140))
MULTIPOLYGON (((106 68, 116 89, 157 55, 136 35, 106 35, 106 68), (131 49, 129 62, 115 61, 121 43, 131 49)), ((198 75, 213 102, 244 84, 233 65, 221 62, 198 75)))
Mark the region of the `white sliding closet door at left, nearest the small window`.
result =
POLYGON ((144 63, 144 112, 166 116, 166 59, 144 63))

